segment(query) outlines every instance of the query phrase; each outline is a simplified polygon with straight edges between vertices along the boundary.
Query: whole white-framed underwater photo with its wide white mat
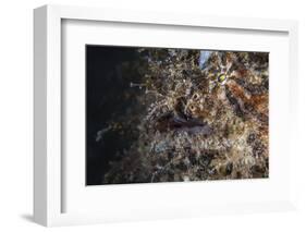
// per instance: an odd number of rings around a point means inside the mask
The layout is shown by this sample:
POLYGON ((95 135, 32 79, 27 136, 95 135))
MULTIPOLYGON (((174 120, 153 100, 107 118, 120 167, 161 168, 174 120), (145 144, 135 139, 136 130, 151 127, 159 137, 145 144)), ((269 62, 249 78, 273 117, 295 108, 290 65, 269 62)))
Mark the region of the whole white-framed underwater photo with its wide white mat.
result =
POLYGON ((35 221, 294 209, 296 22, 34 14, 35 221))

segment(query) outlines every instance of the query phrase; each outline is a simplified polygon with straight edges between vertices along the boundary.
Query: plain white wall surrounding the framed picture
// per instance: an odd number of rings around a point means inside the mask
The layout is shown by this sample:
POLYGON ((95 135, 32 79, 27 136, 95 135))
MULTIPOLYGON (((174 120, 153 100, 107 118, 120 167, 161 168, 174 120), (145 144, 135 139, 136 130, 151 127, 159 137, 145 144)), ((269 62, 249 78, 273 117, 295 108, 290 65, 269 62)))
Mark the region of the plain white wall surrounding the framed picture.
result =
MULTIPOLYGON (((299 137, 306 129, 306 5, 301 0, 9 0, 0 7, 0 231, 41 231, 33 205, 33 9, 46 3, 293 19, 299 22, 299 137)), ((297 212, 57 228, 56 231, 302 231, 306 229, 306 151, 301 149, 297 212)), ((225 197, 225 193, 224 193, 225 197)))

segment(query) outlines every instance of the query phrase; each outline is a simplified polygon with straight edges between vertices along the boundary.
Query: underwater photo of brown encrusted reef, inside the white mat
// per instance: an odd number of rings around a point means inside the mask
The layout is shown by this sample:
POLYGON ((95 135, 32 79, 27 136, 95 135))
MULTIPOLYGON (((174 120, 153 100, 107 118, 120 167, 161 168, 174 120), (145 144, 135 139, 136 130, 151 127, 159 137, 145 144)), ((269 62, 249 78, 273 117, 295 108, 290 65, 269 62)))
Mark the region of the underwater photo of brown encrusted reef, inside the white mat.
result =
POLYGON ((269 176, 269 53, 86 45, 86 185, 269 176))

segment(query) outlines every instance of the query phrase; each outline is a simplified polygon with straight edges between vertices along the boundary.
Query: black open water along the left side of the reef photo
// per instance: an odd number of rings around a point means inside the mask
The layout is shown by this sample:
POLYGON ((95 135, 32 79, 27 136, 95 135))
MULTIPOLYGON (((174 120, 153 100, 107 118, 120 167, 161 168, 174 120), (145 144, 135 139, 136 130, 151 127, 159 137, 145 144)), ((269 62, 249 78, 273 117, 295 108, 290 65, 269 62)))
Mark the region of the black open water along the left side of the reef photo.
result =
POLYGON ((86 46, 86 185, 101 184, 109 161, 117 159, 118 150, 128 146, 111 133, 103 142, 96 138, 98 131, 133 103, 133 98, 126 100, 122 94, 131 88, 131 80, 140 76, 133 69, 123 72, 122 64, 132 64, 139 60, 138 56, 131 47, 86 46))

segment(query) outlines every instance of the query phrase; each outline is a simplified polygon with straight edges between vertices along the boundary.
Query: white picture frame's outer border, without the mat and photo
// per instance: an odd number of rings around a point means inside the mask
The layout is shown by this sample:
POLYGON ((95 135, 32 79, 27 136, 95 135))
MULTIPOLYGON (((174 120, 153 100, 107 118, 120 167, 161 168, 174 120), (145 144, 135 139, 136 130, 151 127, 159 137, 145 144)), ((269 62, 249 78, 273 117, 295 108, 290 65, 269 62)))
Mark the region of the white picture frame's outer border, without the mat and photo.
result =
MULTIPOLYGON (((34 11, 34 59, 35 59, 35 156, 34 156, 34 219, 36 222, 51 225, 99 223, 124 220, 150 220, 156 218, 199 217, 204 215, 229 212, 274 211, 295 208, 296 179, 294 163, 296 162, 296 114, 295 99, 297 97, 297 23, 294 21, 262 20, 262 19, 235 19, 205 15, 181 15, 161 12, 134 12, 110 9, 91 9, 81 7, 45 5, 34 11), (62 23, 64 20, 86 22, 109 22, 155 25, 167 25, 173 29, 181 28, 218 28, 224 30, 245 30, 252 33, 276 32, 287 36, 287 81, 290 95, 289 101, 290 126, 286 129, 290 143, 287 146, 290 168, 286 170, 289 181, 285 187, 289 194, 277 200, 254 200, 229 204, 218 204, 211 199, 211 205, 195 206, 185 202, 180 207, 169 206, 167 210, 157 212, 148 205, 135 208, 131 213, 127 209, 120 208, 113 215, 107 212, 63 212, 65 181, 63 181, 62 158, 62 23), (136 212, 136 210, 138 211, 136 212)), ((273 102, 272 102, 273 103, 273 102)), ((282 131, 283 132, 283 131, 282 131)), ((222 184, 222 183, 221 183, 222 184)), ((163 184, 166 186, 167 184, 163 184)), ((200 183, 193 185, 196 191, 200 183)), ((151 188, 156 188, 152 186, 151 188)), ((172 191, 178 191, 171 185, 172 191)), ((171 188, 170 187, 170 188, 171 188)), ((142 185, 146 188, 146 185, 142 185)), ((167 188, 167 187, 166 187, 167 188)), ((170 190, 169 188, 169 190, 170 190)), ((106 190, 107 191, 107 190, 106 190)), ((188 193, 189 194, 189 193, 188 193)), ((65 199, 66 200, 66 199, 65 199)), ((79 199, 83 200, 83 199, 79 199)), ((137 204, 137 203, 135 203, 137 204)), ((140 204, 140 203, 138 203, 140 204)), ((81 206, 81 204, 79 204, 81 206)), ((78 207, 78 206, 76 206, 78 207)))

